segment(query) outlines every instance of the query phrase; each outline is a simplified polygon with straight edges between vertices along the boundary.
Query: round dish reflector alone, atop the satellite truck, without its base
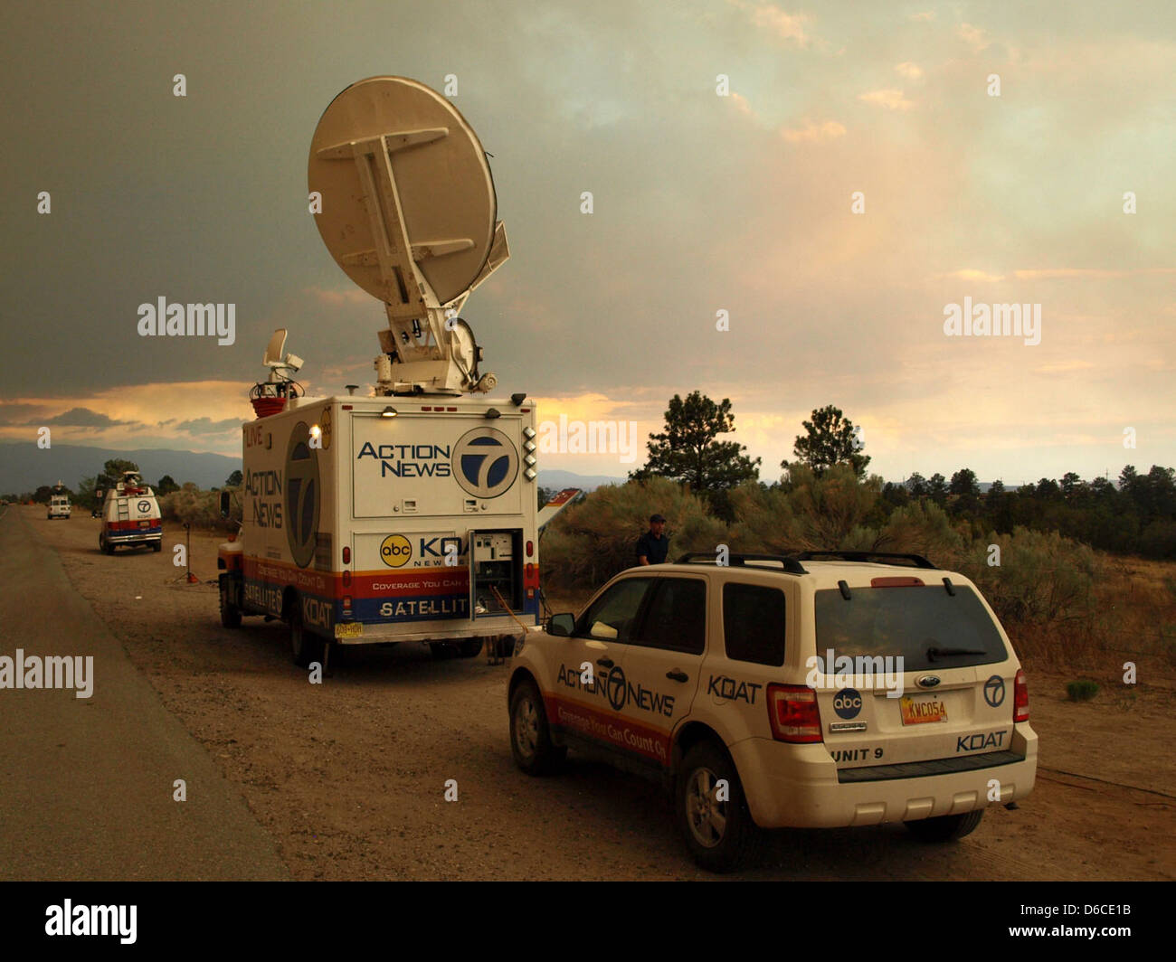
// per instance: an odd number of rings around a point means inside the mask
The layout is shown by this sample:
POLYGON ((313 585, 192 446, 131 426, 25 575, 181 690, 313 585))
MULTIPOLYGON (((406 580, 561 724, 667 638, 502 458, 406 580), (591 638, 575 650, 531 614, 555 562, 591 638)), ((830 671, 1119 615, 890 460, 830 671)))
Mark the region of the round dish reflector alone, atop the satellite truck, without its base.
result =
POLYGON ((340 93, 314 132, 308 180, 322 195, 315 221, 335 262, 397 314, 410 307, 423 318, 433 306, 417 272, 443 306, 487 266, 497 206, 486 154, 423 83, 373 76, 340 93))

